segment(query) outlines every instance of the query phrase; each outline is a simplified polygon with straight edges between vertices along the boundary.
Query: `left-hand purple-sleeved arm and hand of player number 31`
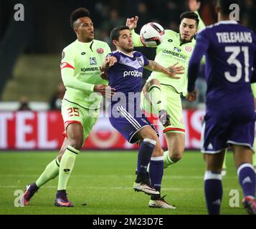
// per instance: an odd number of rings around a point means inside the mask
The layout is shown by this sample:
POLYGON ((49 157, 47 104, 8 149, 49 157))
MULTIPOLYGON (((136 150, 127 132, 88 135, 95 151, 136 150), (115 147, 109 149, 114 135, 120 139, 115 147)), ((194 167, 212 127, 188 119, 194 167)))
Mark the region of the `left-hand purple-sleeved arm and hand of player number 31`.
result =
POLYGON ((193 54, 189 59, 188 70, 188 94, 186 99, 193 102, 196 99, 195 82, 199 72, 200 62, 204 54, 206 54, 209 47, 209 39, 207 39, 206 31, 198 34, 196 39, 196 46, 194 47, 193 54))

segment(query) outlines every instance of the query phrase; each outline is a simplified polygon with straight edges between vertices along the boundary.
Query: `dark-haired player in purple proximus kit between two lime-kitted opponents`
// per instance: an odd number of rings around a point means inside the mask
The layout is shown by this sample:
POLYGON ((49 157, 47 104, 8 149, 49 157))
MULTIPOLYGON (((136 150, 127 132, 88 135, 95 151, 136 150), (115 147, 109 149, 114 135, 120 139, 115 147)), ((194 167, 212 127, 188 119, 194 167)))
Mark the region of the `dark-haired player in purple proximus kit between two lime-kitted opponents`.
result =
POLYGON ((136 181, 133 188, 138 192, 151 195, 149 207, 175 207, 161 198, 161 180, 163 177, 163 150, 158 133, 140 109, 141 77, 143 68, 163 72, 174 79, 176 74, 183 74, 183 67, 169 68, 146 59, 141 52, 133 52, 131 31, 128 26, 113 29, 110 39, 117 48, 103 62, 103 69, 108 69, 109 86, 115 88, 115 94, 109 106, 109 120, 128 142, 139 142, 136 181), (148 172, 148 163, 151 163, 148 172))

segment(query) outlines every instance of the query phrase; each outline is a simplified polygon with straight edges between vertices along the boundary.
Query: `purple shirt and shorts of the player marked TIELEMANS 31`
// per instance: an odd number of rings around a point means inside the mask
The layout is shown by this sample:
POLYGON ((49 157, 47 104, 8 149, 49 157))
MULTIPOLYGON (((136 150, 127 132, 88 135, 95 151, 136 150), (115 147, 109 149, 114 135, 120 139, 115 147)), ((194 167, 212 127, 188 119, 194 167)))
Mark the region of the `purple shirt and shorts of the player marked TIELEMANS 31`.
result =
POLYGON ((196 36, 188 91, 194 89, 200 59, 205 55, 207 112, 202 152, 220 152, 229 144, 252 148, 255 107, 250 83, 255 75, 255 54, 255 34, 237 21, 219 21, 196 36))

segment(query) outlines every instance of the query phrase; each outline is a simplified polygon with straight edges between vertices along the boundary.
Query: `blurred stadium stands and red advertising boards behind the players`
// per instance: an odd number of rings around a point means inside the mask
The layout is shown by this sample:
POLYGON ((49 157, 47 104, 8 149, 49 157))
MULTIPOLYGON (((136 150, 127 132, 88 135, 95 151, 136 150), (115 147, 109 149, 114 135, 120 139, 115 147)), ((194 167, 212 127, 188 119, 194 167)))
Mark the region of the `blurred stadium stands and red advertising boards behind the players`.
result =
MULTIPOLYGON (((202 1, 199 13, 205 24, 217 21, 216 1, 202 1)), ((255 1, 242 1, 242 24, 255 29, 255 1)), ((70 27, 70 12, 84 6, 90 9, 95 24, 95 39, 110 44, 113 27, 125 24, 127 17, 139 16, 138 29, 148 21, 157 21, 165 29, 179 31, 179 15, 188 11, 188 1, 0 1, 0 149, 57 149, 63 137, 62 117, 54 107, 59 84, 62 49, 76 37, 70 27), (14 5, 24 5, 24 21, 14 21, 14 5), (26 112, 16 112, 20 104, 26 112), (29 109, 29 111, 28 111, 29 109), (48 112, 55 109, 54 112, 48 112), (54 128, 52 128, 54 126, 54 128)), ((110 47, 113 46, 110 44, 110 47)), ((155 49, 137 48, 153 59, 155 49)), ((205 82, 202 71, 198 80, 199 99, 189 103, 183 99, 184 122, 187 127, 186 148, 198 149, 200 122, 204 115, 205 82)), ((148 77, 147 70, 143 80, 148 77)), ((62 93, 60 92, 60 96, 62 93)), ((22 108, 21 108, 22 109, 22 108)), ((104 111, 102 111, 103 114, 104 111)), ((136 147, 130 145, 100 116, 87 149, 136 147)), ((161 132, 161 131, 160 131, 161 132)), ((161 133, 161 142, 166 142, 161 133)))

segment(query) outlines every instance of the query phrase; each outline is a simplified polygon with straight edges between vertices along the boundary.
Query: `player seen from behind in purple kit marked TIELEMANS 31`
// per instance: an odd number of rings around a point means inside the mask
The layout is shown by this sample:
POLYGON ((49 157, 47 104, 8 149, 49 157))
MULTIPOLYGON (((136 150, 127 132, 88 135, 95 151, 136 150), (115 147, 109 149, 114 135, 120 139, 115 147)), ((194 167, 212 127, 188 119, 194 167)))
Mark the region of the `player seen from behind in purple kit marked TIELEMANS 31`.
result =
MULTIPOLYGON (((218 0, 218 23, 196 36, 189 62, 187 98, 195 99, 194 83, 202 56, 206 56, 207 112, 202 127, 202 152, 207 162, 204 194, 209 214, 219 214, 222 201, 222 163, 231 147, 249 214, 256 214, 255 172, 252 167, 255 107, 251 82, 255 82, 256 36, 229 19, 232 0, 218 0)), ((238 4, 238 2, 237 2, 238 4)))

